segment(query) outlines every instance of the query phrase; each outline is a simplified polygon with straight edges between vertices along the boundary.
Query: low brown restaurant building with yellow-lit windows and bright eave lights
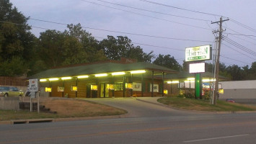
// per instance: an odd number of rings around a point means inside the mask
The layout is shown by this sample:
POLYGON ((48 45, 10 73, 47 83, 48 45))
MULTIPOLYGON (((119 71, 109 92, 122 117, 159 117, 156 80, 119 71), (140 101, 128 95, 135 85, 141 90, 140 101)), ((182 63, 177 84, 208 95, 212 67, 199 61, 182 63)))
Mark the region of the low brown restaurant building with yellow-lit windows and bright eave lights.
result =
POLYGON ((177 73, 127 58, 51 68, 28 79, 40 82, 40 96, 104 98, 164 96, 165 76, 177 73))

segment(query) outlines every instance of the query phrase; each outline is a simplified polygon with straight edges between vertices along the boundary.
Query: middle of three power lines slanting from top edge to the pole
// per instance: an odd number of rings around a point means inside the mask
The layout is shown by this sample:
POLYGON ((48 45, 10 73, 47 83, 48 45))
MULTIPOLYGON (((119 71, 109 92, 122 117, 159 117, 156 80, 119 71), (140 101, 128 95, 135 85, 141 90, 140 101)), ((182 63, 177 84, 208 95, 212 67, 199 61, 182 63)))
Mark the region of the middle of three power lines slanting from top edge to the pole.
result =
MULTIPOLYGON (((81 1, 83 1, 83 0, 81 0, 81 1)), ((102 0, 97 0, 97 1, 102 1, 102 0)), ((172 17, 180 17, 180 18, 185 18, 185 19, 193 19, 193 20, 211 22, 210 20, 206 20, 206 19, 197 19, 197 18, 193 18, 193 17, 183 17, 183 16, 179 16, 179 15, 175 15, 175 14, 167 14, 167 13, 164 13, 164 12, 156 12, 156 11, 151 11, 151 10, 148 10, 148 9, 141 9, 141 8, 137 8, 137 7, 133 7, 133 6, 125 6, 123 4, 116 4, 116 3, 109 2, 109 1, 102 1, 102 2, 107 3, 107 4, 115 4, 117 6, 124 6, 124 7, 128 7, 128 8, 131 8, 131 9, 138 9, 138 10, 146 11, 146 12, 153 12, 153 13, 156 13, 156 14, 164 14, 164 15, 168 15, 168 16, 172 16, 172 17)))

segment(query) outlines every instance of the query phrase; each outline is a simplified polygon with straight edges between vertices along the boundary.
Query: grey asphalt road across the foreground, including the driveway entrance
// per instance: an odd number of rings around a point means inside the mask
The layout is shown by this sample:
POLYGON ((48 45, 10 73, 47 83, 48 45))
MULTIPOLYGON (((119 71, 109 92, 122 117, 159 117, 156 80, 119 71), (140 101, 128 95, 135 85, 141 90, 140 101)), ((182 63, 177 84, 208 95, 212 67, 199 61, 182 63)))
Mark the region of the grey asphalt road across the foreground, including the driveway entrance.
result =
MULTIPOLYGON (((120 107, 129 103, 122 101, 120 107)), ((129 110, 131 114, 119 119, 0 125, 0 144, 256 143, 254 113, 197 114, 142 102, 132 109, 138 112, 129 110), (139 116, 143 111, 149 112, 139 116)))

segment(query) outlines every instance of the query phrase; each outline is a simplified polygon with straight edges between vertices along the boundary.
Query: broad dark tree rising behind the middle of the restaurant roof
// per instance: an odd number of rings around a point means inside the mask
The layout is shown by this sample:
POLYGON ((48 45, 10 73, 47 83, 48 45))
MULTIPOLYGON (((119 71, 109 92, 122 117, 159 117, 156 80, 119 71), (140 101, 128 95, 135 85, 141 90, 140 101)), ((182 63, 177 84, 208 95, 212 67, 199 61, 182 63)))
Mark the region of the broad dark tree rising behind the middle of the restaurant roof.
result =
POLYGON ((133 58, 138 61, 151 62, 154 58, 153 51, 144 53, 140 46, 134 46, 128 37, 115 37, 108 35, 107 39, 100 42, 100 46, 107 58, 120 60, 120 58, 133 58))

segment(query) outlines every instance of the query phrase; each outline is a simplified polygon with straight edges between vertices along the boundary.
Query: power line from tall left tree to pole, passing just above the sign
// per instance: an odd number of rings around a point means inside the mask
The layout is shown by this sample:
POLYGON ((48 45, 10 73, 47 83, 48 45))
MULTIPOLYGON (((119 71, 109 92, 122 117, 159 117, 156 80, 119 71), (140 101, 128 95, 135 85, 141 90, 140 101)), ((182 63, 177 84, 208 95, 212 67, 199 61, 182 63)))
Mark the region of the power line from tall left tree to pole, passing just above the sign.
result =
MULTIPOLYGON (((48 23, 53 23, 53 24, 68 25, 68 24, 63 24, 63 23, 60 23, 60 22, 51 22, 51 21, 42 20, 42 19, 33 19, 31 17, 30 17, 30 19, 35 20, 35 21, 40 21, 40 22, 48 22, 48 23)), ((91 30, 100 30, 100 31, 105 31, 105 32, 122 33, 122 34, 126 34, 126 35, 138 35, 138 36, 143 36, 143 37, 162 38, 162 39, 168 39, 168 40, 183 40, 183 41, 192 41, 192 42, 211 42, 211 41, 206 41, 206 40, 189 40, 189 39, 181 39, 181 38, 174 38, 174 37, 160 37, 160 36, 154 36, 154 35, 143 35, 143 34, 136 34, 136 33, 131 33, 131 32, 120 32, 120 31, 114 31, 114 30, 103 30, 103 29, 97 29, 97 28, 93 28, 93 27, 83 27, 83 28, 91 29, 91 30)))

